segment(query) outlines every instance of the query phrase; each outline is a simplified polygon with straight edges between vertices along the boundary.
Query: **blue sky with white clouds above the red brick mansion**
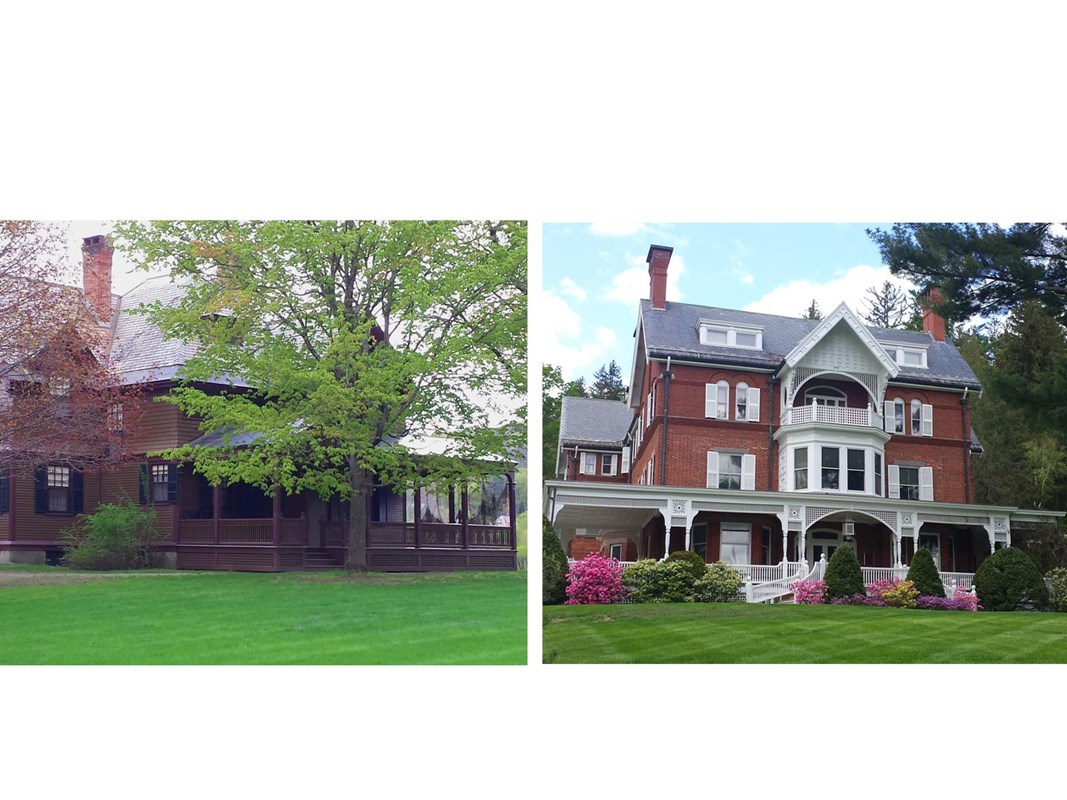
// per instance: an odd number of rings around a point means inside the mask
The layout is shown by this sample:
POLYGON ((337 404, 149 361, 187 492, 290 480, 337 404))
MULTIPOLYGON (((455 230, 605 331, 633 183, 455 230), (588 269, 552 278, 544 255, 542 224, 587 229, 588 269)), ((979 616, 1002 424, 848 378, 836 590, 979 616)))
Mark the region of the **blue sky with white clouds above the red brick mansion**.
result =
MULTIPOLYGON (((530 321, 542 359, 567 379, 611 358, 628 383, 637 304, 648 298, 650 244, 674 249, 667 299, 801 316, 844 301, 863 314, 867 287, 893 279, 869 227, 889 223, 656 224, 543 226, 543 317, 530 321)), ((540 315, 539 315, 540 316, 540 315)))

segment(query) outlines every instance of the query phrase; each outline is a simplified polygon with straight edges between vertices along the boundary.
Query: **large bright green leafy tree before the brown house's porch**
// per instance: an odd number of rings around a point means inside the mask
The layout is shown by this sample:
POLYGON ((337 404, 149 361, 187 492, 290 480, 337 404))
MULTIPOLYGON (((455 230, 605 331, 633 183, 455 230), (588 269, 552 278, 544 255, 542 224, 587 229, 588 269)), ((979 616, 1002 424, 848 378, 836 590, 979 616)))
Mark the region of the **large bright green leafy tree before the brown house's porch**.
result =
POLYGON ((200 345, 168 400, 203 430, 256 436, 168 457, 212 483, 348 498, 351 569, 366 569, 376 481, 472 479, 525 442, 525 223, 126 222, 115 233, 144 269, 187 284, 177 305, 147 311, 165 336, 200 345), (220 381, 230 387, 212 389, 220 381), (444 454, 409 444, 431 437, 447 438, 444 454))

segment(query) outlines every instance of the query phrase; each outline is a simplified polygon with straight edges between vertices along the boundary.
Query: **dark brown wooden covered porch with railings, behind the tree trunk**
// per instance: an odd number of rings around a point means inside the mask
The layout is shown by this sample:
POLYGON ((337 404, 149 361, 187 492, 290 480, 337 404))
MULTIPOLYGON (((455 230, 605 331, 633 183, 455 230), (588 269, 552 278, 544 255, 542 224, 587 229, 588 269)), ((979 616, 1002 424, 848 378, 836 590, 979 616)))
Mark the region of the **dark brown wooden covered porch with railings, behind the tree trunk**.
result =
MULTIPOLYGON (((349 546, 347 501, 310 493, 210 486, 181 467, 174 506, 179 570, 337 570, 349 546)), ((367 565, 380 572, 517 569, 514 474, 469 486, 367 494, 367 565), (443 502, 442 502, 443 500, 443 502), (417 511, 416 511, 417 510, 417 511)))

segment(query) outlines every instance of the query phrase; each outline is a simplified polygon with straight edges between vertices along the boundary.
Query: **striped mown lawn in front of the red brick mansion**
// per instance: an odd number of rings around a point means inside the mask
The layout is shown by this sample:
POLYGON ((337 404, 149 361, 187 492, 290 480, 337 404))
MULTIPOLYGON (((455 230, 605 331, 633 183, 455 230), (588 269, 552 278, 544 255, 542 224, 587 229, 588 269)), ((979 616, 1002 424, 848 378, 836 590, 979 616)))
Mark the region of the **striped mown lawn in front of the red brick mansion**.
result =
POLYGON ((546 663, 1067 663, 1067 614, 849 606, 547 606, 546 663))

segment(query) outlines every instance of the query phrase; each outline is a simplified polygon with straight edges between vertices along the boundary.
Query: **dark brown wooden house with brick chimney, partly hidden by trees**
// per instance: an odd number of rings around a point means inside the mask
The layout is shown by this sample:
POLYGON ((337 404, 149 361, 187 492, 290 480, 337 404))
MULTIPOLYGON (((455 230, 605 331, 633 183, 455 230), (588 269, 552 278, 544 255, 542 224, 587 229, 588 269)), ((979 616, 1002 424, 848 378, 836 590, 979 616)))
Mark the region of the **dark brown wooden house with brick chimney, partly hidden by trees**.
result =
MULTIPOLYGON (((170 403, 154 402, 178 381, 191 346, 165 340, 133 311, 178 300, 182 287, 148 278, 124 297, 113 295, 112 251, 103 237, 82 245, 86 303, 105 330, 107 356, 122 380, 142 389, 145 403, 132 429, 123 430, 140 457, 108 471, 81 473, 58 463, 32 474, 0 474, 0 562, 57 563, 62 532, 77 514, 124 497, 152 506, 164 564, 181 570, 276 572, 337 569, 348 547, 346 505, 310 493, 273 495, 242 483, 211 486, 188 464, 146 453, 194 442, 210 445, 196 419, 170 403)), ((232 384, 227 384, 232 386, 232 384)), ((5 387, 0 386, 0 391, 5 387)), ((2 412, 0 412, 2 413, 2 412)), ((248 444, 252 444, 250 442, 248 444)), ((515 483, 510 466, 478 486, 378 486, 367 522, 371 570, 514 570, 515 483)))

